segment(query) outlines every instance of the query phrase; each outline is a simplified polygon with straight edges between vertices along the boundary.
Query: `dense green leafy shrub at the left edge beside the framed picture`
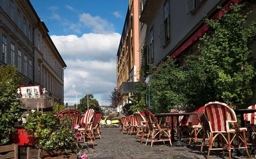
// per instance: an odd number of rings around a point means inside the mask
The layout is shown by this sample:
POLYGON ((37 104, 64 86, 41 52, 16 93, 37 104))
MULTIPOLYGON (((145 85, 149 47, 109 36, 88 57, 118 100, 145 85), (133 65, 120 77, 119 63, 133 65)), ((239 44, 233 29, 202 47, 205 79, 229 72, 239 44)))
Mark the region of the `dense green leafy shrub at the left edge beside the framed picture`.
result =
POLYGON ((0 66, 0 143, 9 141, 8 134, 14 133, 15 122, 22 119, 22 103, 16 99, 16 90, 22 78, 17 77, 17 68, 0 66))

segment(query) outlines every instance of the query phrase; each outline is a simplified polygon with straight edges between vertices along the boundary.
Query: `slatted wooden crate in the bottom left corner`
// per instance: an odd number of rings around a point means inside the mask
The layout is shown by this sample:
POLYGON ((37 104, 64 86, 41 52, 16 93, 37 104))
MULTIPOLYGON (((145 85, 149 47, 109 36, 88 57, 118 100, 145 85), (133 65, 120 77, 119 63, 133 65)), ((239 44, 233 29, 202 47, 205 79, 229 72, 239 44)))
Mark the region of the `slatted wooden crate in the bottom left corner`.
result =
POLYGON ((0 159, 18 159, 18 144, 0 146, 0 159))

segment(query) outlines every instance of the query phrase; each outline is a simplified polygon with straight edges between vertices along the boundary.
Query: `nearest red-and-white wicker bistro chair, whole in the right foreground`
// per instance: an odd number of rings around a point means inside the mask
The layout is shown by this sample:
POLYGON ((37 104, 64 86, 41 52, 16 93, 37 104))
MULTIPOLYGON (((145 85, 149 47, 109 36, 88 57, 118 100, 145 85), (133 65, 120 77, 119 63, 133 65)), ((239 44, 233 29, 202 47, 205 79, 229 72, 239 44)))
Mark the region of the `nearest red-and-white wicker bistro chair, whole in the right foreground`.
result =
POLYGON ((245 148, 246 154, 251 158, 246 143, 246 128, 237 127, 236 114, 230 106, 222 102, 210 102, 205 104, 204 114, 206 115, 211 131, 207 158, 209 158, 212 150, 212 142, 218 135, 221 135, 227 143, 227 147, 223 146, 223 148, 228 150, 229 159, 231 159, 231 149, 241 148, 245 148), (229 123, 234 123, 235 128, 230 128, 229 123), (227 134, 227 139, 224 134, 227 134), (232 138, 230 138, 231 135, 233 135, 232 138), (231 143, 233 143, 235 137, 244 143, 244 147, 240 147, 240 144, 237 148, 231 147, 231 143))

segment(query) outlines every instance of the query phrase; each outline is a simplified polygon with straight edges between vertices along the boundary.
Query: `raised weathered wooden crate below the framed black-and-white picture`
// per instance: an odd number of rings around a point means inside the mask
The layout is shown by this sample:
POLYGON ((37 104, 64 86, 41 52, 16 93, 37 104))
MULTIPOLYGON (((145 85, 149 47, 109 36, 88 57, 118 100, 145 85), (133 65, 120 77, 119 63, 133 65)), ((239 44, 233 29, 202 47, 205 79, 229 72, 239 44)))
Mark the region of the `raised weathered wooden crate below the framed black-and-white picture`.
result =
POLYGON ((24 108, 37 108, 39 103, 39 109, 41 109, 41 103, 43 108, 51 108, 54 106, 54 98, 18 98, 24 105, 24 108))

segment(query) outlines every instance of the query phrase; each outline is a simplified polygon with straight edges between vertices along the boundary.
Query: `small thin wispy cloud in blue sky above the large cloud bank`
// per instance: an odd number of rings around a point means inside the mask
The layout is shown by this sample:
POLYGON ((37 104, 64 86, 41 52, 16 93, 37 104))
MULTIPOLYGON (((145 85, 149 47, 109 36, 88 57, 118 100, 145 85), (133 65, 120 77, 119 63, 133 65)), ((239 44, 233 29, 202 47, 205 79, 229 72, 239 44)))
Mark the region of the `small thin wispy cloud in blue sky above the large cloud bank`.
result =
POLYGON ((91 16, 89 13, 83 13, 79 16, 79 21, 85 27, 91 28, 94 33, 113 33, 114 25, 108 20, 99 16, 91 16))

